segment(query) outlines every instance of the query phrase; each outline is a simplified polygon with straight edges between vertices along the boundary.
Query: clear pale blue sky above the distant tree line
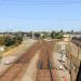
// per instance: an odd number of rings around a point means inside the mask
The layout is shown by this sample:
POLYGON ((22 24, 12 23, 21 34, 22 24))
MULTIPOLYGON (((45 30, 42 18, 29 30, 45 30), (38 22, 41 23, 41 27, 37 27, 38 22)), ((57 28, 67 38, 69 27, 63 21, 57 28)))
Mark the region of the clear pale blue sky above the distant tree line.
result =
POLYGON ((0 31, 81 30, 80 0, 0 0, 0 31))

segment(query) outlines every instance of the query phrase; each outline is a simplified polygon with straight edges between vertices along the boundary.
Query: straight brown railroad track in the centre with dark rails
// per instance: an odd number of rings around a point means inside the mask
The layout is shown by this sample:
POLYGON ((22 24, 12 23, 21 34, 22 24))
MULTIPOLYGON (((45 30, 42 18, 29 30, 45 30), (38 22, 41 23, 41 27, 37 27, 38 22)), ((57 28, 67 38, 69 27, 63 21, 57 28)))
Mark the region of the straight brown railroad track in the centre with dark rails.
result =
POLYGON ((51 56, 53 52, 54 42, 43 41, 40 59, 38 64, 38 75, 36 81, 54 81, 51 56))

